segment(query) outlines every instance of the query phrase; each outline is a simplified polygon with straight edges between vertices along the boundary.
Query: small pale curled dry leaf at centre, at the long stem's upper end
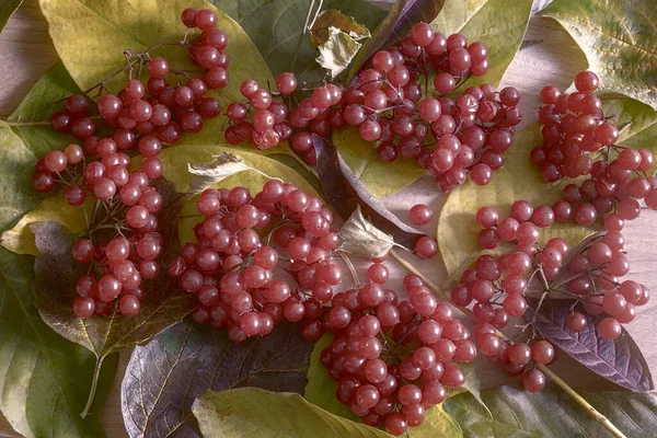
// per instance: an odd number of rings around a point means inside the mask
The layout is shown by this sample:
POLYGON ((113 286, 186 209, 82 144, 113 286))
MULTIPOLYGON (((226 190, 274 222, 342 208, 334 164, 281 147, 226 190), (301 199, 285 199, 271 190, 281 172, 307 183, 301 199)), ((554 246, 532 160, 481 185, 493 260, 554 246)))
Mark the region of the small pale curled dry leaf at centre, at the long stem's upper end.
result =
POLYGON ((339 250, 356 257, 382 257, 395 245, 392 235, 374 227, 362 216, 360 204, 339 229, 339 250))

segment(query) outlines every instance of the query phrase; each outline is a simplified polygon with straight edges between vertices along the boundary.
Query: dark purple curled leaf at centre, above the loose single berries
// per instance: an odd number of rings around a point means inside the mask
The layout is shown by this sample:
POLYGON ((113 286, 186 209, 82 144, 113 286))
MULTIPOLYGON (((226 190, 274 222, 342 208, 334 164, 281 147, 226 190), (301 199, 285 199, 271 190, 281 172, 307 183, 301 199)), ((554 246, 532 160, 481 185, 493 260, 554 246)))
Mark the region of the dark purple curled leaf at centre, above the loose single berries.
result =
POLYGON ((344 162, 335 146, 323 137, 312 135, 318 153, 318 174, 326 200, 337 214, 347 219, 360 205, 362 214, 379 230, 392 234, 395 243, 413 247, 422 232, 408 227, 373 197, 344 162))

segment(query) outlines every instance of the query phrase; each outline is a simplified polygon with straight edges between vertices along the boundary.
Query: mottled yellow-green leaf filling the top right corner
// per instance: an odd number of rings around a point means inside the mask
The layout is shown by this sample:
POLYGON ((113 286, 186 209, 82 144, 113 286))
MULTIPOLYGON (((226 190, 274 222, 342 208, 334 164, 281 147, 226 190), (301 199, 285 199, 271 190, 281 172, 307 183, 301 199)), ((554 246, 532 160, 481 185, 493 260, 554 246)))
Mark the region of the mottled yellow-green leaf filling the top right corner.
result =
POLYGON ((657 8, 650 1, 555 0, 540 15, 556 20, 579 45, 600 90, 657 110, 657 8))

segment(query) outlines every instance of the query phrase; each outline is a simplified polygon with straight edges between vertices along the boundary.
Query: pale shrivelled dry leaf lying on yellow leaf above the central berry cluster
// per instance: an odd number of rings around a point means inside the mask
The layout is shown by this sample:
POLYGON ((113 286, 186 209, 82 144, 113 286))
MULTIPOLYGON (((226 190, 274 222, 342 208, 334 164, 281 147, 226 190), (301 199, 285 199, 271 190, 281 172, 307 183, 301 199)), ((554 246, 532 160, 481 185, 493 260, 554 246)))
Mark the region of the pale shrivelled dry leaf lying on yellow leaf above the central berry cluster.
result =
POLYGON ((209 163, 187 163, 187 170, 194 175, 189 181, 187 198, 193 198, 206 188, 226 180, 230 175, 243 171, 254 171, 263 176, 269 177, 257 169, 247 165, 241 157, 228 152, 221 152, 220 154, 212 157, 212 161, 209 163))

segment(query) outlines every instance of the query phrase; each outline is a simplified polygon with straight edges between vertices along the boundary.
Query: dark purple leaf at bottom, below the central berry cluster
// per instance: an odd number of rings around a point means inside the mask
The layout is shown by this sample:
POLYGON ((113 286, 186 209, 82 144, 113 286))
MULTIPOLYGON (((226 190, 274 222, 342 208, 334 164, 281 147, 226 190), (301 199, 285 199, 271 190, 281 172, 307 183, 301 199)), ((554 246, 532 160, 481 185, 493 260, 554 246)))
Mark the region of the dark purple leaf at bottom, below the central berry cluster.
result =
MULTIPOLYGON (((209 390, 257 387, 302 392, 311 350, 299 326, 290 323, 241 343, 208 325, 175 324, 132 351, 120 393, 128 435, 198 436, 192 404, 209 390), (149 371, 153 369, 159 372, 149 371)), ((278 408, 268 407, 280 416, 278 408)))

